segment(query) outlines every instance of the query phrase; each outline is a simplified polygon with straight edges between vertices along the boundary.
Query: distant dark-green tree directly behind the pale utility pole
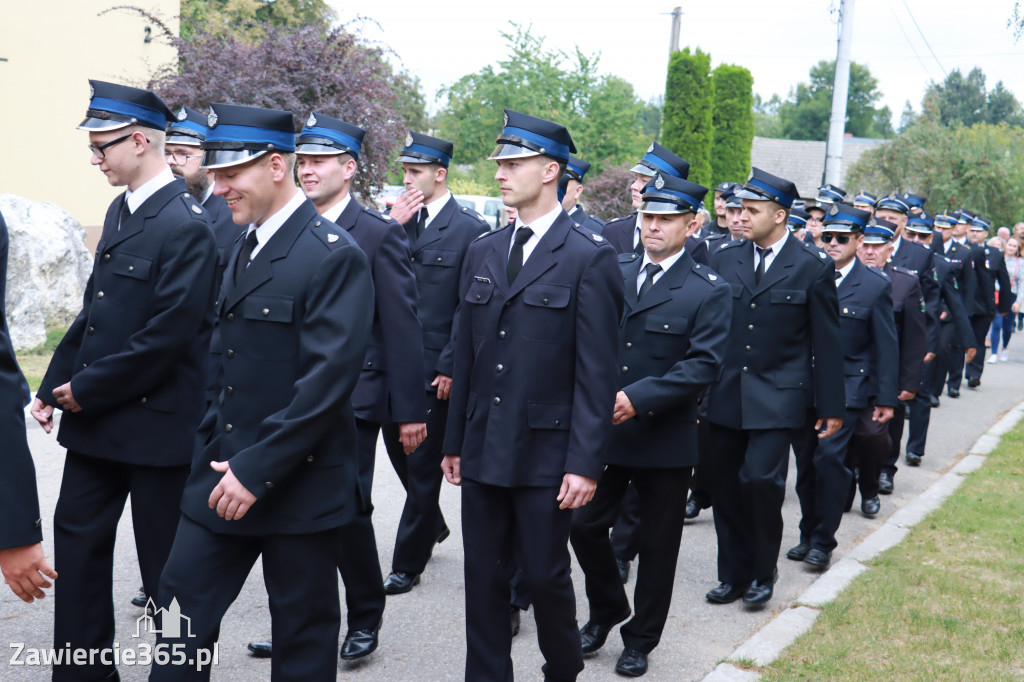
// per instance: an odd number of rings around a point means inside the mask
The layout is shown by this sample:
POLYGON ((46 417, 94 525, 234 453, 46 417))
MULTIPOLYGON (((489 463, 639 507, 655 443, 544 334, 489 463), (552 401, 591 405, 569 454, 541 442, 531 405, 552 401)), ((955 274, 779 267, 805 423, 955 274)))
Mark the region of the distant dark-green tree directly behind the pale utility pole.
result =
MULTIPOLYGON (((816 140, 827 137, 835 80, 835 60, 821 60, 811 68, 810 82, 798 84, 779 106, 782 137, 816 140)), ((845 132, 856 137, 892 137, 892 112, 888 106, 876 106, 882 99, 878 85, 867 67, 850 63, 845 132)))

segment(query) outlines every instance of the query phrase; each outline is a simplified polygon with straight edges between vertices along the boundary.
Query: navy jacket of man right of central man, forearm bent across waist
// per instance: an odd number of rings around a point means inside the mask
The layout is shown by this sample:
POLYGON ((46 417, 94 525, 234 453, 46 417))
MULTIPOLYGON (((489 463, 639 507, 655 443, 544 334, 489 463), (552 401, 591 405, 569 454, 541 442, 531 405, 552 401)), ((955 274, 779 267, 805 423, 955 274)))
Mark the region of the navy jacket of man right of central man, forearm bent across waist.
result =
POLYGON ((732 289, 689 253, 637 299, 643 259, 618 257, 626 307, 618 328, 618 388, 637 416, 611 428, 607 464, 679 468, 697 464, 697 397, 718 380, 732 289))

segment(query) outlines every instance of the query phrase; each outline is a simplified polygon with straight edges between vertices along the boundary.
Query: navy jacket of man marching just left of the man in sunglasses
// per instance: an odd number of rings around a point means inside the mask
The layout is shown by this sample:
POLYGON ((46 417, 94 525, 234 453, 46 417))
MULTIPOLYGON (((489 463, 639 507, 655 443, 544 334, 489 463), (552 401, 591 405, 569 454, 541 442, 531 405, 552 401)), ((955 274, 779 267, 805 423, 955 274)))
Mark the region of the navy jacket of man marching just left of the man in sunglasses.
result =
POLYGON ((712 269, 732 286, 732 333, 722 378, 709 393, 709 419, 749 430, 804 426, 812 407, 820 418, 843 417, 831 259, 790 237, 756 284, 754 243, 735 241, 713 254, 712 269))

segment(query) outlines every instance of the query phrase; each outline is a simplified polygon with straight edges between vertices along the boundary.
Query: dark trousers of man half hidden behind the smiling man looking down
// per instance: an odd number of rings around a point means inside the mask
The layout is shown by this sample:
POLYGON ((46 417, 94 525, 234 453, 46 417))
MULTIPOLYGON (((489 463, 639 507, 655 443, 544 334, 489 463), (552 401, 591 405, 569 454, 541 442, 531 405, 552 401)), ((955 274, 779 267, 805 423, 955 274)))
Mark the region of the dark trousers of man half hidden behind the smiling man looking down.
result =
POLYGON ((374 534, 372 489, 374 463, 377 459, 377 436, 380 424, 355 419, 359 458, 359 503, 355 518, 338 528, 338 571, 345 584, 345 605, 348 629, 372 630, 384 616, 384 579, 377 556, 374 534))

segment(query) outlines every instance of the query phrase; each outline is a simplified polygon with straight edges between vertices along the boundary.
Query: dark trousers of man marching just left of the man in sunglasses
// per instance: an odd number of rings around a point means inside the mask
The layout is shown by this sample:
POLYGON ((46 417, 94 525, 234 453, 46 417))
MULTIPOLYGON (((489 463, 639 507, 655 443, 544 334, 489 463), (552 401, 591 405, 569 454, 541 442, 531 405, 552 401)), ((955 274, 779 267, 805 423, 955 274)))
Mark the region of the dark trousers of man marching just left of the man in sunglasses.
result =
POLYGON ((711 424, 708 460, 719 582, 742 586, 774 573, 782 544, 790 443, 800 432, 711 424))

